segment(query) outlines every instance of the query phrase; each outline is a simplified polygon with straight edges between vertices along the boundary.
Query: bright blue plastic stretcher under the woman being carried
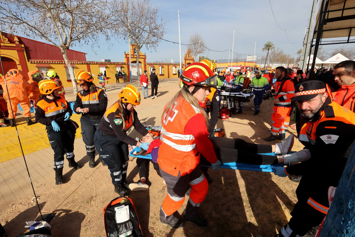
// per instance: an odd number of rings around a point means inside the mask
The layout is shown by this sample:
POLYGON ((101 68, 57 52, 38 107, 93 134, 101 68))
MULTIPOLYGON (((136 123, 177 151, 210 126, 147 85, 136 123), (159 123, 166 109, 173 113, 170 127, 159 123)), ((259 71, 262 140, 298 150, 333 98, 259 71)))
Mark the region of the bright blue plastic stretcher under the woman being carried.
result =
MULTIPOLYGON (((143 159, 149 159, 152 160, 152 156, 150 154, 142 156, 142 155, 133 155, 133 152, 138 152, 140 151, 139 147, 136 147, 130 152, 130 156, 132 157, 138 157, 138 158, 143 158, 143 159)), ((269 155, 273 156, 274 153, 263 153, 263 155, 269 155)), ((211 167, 211 166, 205 166, 205 165, 200 165, 204 167, 211 167)), ((225 168, 225 169, 244 169, 244 170, 253 170, 253 171, 261 171, 261 172, 275 172, 276 169, 275 167, 280 166, 283 167, 284 164, 277 164, 277 165, 249 165, 245 163, 240 163, 240 162, 230 162, 230 163, 223 163, 220 167, 225 168)))

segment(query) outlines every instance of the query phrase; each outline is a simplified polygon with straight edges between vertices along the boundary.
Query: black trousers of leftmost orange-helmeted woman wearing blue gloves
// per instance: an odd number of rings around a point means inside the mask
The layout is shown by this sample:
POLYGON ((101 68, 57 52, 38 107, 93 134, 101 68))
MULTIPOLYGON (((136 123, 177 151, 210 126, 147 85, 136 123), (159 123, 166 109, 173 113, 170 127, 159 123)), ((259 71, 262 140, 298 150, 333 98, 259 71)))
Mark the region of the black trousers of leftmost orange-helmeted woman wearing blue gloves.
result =
POLYGON ((51 125, 46 125, 49 144, 54 151, 54 169, 63 168, 64 154, 66 158, 74 158, 75 127, 70 120, 60 126, 58 132, 51 125))

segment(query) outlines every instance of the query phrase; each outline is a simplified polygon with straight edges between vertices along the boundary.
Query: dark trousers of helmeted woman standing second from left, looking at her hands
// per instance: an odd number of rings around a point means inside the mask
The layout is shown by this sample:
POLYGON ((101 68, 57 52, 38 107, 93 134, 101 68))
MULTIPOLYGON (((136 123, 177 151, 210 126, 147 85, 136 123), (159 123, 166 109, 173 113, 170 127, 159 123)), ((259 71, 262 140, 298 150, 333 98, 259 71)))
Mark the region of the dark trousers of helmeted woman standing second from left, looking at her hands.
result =
POLYGON ((95 155, 94 134, 99 129, 101 118, 89 119, 83 116, 80 118, 81 136, 85 143, 86 155, 88 156, 95 155))

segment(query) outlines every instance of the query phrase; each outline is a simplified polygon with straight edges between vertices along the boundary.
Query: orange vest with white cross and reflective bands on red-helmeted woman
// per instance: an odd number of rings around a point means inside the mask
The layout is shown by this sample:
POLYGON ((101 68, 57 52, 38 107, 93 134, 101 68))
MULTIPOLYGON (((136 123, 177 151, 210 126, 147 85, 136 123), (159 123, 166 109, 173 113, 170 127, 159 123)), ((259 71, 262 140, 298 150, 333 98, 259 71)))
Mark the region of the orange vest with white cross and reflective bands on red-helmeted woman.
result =
POLYGON ((189 120, 196 114, 202 114, 200 109, 181 99, 175 102, 170 114, 163 115, 159 147, 158 163, 165 172, 178 176, 191 173, 200 162, 195 138, 184 132, 189 120))

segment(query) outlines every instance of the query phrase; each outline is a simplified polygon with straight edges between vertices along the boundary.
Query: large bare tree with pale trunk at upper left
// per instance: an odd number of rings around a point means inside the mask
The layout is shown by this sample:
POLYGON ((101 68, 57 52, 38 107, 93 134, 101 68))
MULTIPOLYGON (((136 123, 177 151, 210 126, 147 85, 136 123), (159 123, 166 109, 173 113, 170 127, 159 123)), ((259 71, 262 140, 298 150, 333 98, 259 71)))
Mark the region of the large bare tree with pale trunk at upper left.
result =
POLYGON ((119 0, 0 0, 1 30, 40 37, 60 48, 73 88, 76 82, 66 55, 73 44, 110 42, 118 29, 119 0), (115 6, 115 7, 107 7, 115 6))

